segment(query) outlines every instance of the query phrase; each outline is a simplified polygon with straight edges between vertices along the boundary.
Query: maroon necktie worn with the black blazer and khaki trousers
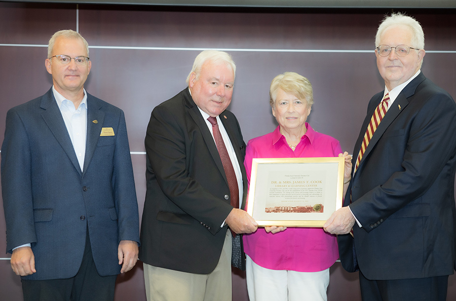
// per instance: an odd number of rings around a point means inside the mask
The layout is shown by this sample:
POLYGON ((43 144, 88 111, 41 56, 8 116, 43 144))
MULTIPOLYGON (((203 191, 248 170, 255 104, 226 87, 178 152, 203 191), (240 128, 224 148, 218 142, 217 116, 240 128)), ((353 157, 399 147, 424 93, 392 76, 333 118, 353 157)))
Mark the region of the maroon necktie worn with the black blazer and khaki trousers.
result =
POLYGON ((214 135, 215 145, 217 145, 218 155, 223 164, 223 170, 225 171, 226 180, 230 187, 231 195, 231 206, 239 209, 239 186, 236 173, 233 168, 228 151, 226 150, 225 143, 218 129, 217 119, 215 117, 209 117, 207 119, 212 124, 212 134, 214 135))

